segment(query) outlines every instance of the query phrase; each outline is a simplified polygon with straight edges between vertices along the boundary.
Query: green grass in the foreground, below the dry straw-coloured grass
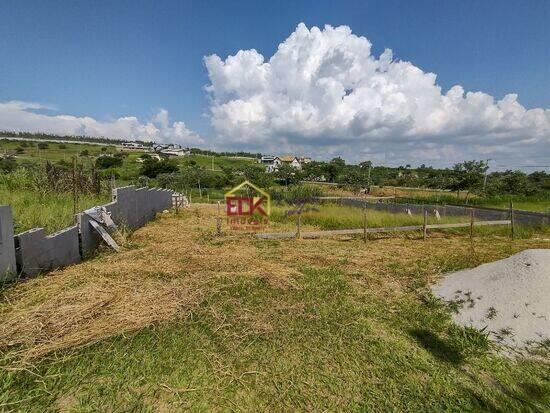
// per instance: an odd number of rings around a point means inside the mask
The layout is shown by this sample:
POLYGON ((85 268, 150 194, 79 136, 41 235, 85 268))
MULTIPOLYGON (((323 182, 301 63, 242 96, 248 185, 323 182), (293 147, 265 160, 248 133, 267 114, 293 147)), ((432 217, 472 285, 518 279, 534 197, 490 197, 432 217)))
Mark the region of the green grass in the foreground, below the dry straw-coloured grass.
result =
MULTIPOLYGON (((454 263, 456 264, 456 263, 454 263)), ((418 268, 396 268, 404 277, 418 268)), ((544 411, 540 364, 491 355, 481 334, 410 294, 388 305, 338 269, 291 291, 232 276, 185 320, 0 373, 24 411, 544 411), (255 315, 259 315, 255 320, 255 315)))

